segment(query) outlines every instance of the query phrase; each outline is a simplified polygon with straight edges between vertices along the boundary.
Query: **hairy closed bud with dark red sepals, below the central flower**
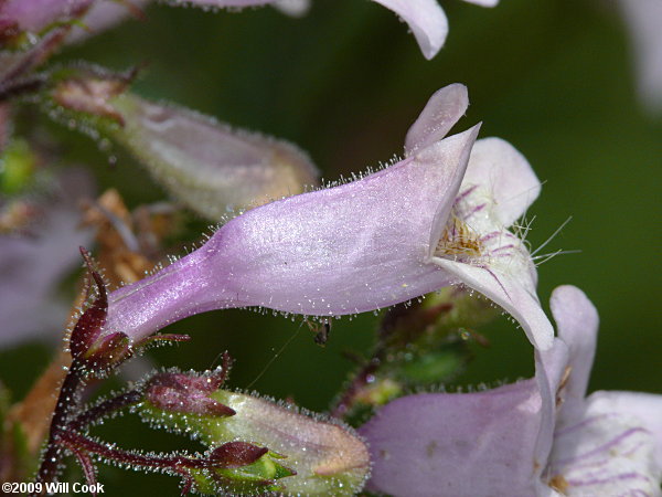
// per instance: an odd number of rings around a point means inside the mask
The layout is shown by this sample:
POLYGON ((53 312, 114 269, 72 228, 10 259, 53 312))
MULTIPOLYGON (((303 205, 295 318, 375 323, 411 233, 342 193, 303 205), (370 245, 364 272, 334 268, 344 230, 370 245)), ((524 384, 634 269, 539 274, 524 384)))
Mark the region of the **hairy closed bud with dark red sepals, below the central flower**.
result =
MULTIPOLYGON (((146 401, 138 406, 142 417, 153 424, 186 433, 216 447, 212 458, 239 463, 250 457, 256 462, 233 469, 214 467, 197 472, 194 479, 201 491, 253 493, 278 491, 284 495, 353 495, 370 472, 365 444, 344 425, 312 417, 295 406, 277 404, 245 393, 212 389, 214 376, 170 373, 157 376, 148 387, 146 401), (154 385, 189 392, 185 409, 166 405, 154 385), (168 385, 168 387, 167 387, 168 385), (213 400, 235 414, 214 416, 207 409, 213 400), (156 400, 156 402, 154 402, 156 400), (252 448, 228 442, 250 442, 268 452, 259 455, 252 448), (220 450, 221 447, 225 447, 220 450), (239 454, 241 453, 241 454, 239 454), (215 455, 214 455, 215 454, 215 455), (211 473, 213 472, 213 474, 211 473)), ((172 394, 172 392, 169 392, 172 394)), ((177 401, 181 399, 173 395, 177 401)), ((172 399, 169 398, 169 399, 172 399)))

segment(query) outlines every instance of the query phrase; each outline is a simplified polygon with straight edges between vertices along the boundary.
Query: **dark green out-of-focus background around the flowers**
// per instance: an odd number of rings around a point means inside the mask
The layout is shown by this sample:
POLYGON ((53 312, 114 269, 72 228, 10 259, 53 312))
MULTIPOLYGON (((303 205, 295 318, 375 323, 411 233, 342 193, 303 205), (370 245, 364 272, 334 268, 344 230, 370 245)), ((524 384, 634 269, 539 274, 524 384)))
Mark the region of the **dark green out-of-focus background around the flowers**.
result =
MULTIPOLYGON (((540 296, 548 309, 552 289, 570 283, 597 306, 601 327, 590 390, 662 393, 662 245, 654 221, 662 116, 637 98, 618 9, 598 0, 503 0, 495 9, 441 3, 450 34, 433 61, 392 12, 364 0, 313 0, 302 19, 269 8, 233 13, 154 4, 145 22, 128 21, 63 50, 56 60, 119 71, 147 63, 137 93, 288 139, 311 155, 328 180, 402 154, 405 133, 433 92, 466 84, 471 106, 456 130, 483 121, 481 136, 509 140, 544 182, 527 215, 535 216, 533 247, 573 216, 544 252, 581 253, 540 267, 540 296)), ((115 149, 110 166, 89 138, 43 115, 33 118, 31 126, 56 138, 63 161, 94 170, 99 191, 115 187, 130 207, 166 197, 128 155, 115 149)), ((186 242, 196 242, 205 226, 190 224, 186 242)), ((72 282, 63 292, 73 292, 72 282)), ((352 369, 342 352, 365 352, 376 322, 373 314, 338 320, 321 348, 300 318, 214 311, 171 326, 168 331, 190 332, 192 341, 156 350, 149 360, 203 370, 228 350, 236 360, 232 387, 324 411, 352 369)), ((515 325, 501 319, 481 332, 491 347, 477 348, 468 371, 448 390, 532 374, 532 350, 515 325)), ((14 398, 51 353, 36 343, 0 351, 0 378, 14 398)), ((169 444, 153 437, 138 442, 139 423, 121 423, 129 429, 107 433, 127 446, 169 444)), ((174 446, 181 445, 178 438, 174 446)), ((119 469, 105 468, 100 480, 107 488, 121 482, 128 495, 143 485, 175 489, 173 480, 119 469)))

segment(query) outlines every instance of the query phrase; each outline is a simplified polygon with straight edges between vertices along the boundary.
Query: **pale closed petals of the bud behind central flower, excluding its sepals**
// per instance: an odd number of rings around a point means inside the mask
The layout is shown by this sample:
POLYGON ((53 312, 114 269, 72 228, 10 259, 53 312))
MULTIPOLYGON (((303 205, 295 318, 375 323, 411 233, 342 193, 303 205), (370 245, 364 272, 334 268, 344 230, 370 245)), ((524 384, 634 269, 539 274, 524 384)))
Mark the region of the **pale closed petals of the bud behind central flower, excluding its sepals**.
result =
POLYGON ((115 138, 175 199, 211 220, 317 183, 310 159, 288 142, 130 94, 113 105, 125 121, 115 138))

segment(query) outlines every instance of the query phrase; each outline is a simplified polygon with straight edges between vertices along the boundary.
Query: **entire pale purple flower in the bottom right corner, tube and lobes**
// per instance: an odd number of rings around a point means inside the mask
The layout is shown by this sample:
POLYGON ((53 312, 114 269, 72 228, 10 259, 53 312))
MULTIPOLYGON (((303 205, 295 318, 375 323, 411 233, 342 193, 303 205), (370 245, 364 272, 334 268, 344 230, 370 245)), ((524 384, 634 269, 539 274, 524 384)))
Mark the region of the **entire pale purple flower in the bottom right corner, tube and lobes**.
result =
POLYGON ((405 396, 361 427, 373 462, 369 488, 395 496, 660 495, 662 395, 585 398, 597 311, 573 286, 554 292, 552 311, 559 338, 536 351, 534 379, 405 396))

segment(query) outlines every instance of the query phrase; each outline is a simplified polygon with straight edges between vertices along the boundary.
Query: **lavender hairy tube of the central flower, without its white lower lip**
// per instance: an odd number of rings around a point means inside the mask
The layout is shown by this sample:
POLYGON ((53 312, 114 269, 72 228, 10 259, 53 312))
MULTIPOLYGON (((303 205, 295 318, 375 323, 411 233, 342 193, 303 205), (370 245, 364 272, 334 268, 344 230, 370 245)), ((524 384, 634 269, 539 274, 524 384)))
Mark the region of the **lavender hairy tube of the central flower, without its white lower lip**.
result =
MULTIPOLYGON (((449 128, 465 112, 466 89, 447 98, 457 109, 449 128)), ((450 211, 477 133, 235 218, 186 257, 111 293, 107 329, 142 337, 191 314, 239 306, 355 314, 447 285, 446 273, 427 261, 430 232, 450 211)))

